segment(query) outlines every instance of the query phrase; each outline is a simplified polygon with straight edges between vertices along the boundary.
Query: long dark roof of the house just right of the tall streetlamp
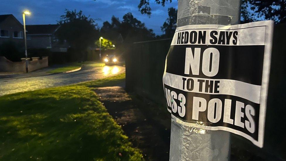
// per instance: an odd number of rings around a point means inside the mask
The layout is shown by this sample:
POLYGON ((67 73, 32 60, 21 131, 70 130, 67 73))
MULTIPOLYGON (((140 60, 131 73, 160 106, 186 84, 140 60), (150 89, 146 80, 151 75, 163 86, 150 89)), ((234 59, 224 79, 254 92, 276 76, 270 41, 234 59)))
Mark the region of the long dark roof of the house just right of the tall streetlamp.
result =
POLYGON ((59 24, 55 25, 26 25, 28 35, 50 35, 53 34, 58 28, 59 24))

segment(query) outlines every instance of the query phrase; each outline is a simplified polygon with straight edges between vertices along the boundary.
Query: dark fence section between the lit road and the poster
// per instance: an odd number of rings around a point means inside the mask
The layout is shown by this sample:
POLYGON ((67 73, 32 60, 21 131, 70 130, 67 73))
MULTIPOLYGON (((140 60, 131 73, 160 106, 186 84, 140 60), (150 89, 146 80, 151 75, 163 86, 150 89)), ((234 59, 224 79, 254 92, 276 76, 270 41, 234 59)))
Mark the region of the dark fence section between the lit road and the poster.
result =
POLYGON ((126 90, 164 104, 163 73, 171 39, 133 43, 125 55, 126 90))

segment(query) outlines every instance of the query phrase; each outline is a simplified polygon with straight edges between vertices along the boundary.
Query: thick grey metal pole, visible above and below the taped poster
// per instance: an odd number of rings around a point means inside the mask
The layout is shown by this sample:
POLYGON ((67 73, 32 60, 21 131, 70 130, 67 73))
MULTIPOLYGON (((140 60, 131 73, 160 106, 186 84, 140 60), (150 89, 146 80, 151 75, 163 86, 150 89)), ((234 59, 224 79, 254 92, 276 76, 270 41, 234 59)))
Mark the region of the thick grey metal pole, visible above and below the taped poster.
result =
MULTIPOLYGON (((178 0, 177 27, 240 23, 241 0, 178 0)), ((171 118, 170 160, 229 160, 230 133, 198 129, 171 118)))

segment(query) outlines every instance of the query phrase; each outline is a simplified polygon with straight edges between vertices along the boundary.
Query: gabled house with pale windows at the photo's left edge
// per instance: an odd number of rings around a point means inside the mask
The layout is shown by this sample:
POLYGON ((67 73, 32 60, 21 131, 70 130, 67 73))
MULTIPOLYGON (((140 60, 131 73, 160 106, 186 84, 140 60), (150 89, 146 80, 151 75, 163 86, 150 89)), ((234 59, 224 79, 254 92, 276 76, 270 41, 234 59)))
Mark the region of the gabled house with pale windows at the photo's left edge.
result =
POLYGON ((19 48, 24 48, 23 25, 12 15, 0 15, 0 44, 13 41, 19 48))

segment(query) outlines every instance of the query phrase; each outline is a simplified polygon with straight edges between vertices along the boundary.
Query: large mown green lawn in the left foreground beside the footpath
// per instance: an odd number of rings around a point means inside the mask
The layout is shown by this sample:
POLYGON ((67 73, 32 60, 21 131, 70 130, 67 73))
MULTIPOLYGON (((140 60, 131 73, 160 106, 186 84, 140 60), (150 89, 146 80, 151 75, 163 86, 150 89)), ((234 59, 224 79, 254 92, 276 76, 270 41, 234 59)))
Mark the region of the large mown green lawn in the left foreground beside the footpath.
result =
POLYGON ((0 97, 0 160, 141 160, 92 90, 125 74, 0 97))

